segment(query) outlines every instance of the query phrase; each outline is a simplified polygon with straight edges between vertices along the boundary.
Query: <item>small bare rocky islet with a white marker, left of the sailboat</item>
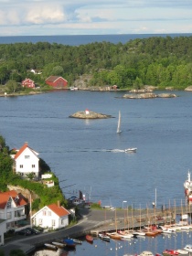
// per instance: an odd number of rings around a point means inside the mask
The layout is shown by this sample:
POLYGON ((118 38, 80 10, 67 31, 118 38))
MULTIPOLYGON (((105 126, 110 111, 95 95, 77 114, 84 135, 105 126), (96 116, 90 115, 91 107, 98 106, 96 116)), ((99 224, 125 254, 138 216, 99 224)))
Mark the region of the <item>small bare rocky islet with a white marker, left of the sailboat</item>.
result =
POLYGON ((112 118, 112 115, 85 110, 85 111, 75 112, 69 115, 69 117, 79 118, 79 119, 106 119, 106 118, 112 118))

